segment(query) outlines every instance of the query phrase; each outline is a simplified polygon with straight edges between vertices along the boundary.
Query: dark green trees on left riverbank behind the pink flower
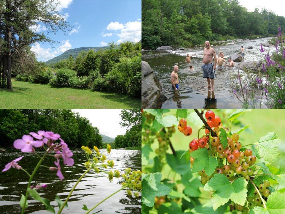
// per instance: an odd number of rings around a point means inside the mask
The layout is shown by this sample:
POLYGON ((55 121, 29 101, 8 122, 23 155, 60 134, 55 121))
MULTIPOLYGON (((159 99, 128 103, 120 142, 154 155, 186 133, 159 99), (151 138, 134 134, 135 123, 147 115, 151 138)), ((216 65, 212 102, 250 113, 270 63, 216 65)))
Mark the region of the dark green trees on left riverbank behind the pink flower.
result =
POLYGON ((0 109, 1 147, 13 147, 16 139, 38 130, 60 134, 69 147, 102 147, 99 129, 70 109, 0 109))

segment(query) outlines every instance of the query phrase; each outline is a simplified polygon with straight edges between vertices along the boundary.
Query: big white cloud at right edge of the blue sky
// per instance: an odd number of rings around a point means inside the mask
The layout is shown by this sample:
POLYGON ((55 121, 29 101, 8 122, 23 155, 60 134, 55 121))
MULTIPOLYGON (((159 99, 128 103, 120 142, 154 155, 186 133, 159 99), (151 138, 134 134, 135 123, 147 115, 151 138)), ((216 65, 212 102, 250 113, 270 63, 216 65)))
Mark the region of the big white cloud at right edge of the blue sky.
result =
POLYGON ((118 44, 125 41, 139 42, 142 38, 142 22, 134 21, 127 22, 124 24, 124 28, 117 34, 120 39, 117 41, 118 44))

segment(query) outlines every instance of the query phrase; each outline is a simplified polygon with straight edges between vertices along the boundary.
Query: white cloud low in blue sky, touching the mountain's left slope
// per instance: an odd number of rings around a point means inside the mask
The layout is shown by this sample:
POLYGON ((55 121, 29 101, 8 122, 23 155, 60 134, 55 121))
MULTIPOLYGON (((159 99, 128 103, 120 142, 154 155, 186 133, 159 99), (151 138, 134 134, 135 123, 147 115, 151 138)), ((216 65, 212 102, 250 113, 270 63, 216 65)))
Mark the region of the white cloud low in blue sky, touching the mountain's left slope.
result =
POLYGON ((61 54, 72 48, 72 45, 69 43, 69 40, 62 41, 62 45, 60 45, 56 50, 52 51, 50 48, 42 48, 39 43, 35 43, 31 46, 31 51, 35 52, 37 55, 37 59, 41 61, 47 61, 56 57, 56 54, 61 54))

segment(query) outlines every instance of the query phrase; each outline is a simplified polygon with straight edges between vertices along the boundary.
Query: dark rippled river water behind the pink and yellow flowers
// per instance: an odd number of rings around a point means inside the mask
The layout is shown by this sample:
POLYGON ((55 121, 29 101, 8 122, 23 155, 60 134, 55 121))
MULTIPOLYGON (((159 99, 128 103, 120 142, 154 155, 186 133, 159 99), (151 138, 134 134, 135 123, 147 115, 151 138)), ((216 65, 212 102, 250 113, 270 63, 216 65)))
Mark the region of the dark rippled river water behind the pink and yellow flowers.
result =
MULTIPOLYGON (((111 150, 108 154, 106 150, 100 150, 107 157, 107 160, 114 160, 114 168, 120 173, 124 173, 124 169, 129 167, 132 170, 141 170, 141 151, 137 150, 111 150)), ((44 154, 39 152, 39 154, 44 154)), ((44 167, 40 167, 34 177, 32 185, 47 184, 47 188, 38 190, 39 194, 51 201, 51 205, 58 211, 58 204, 54 201, 57 193, 61 200, 64 201, 70 190, 75 185, 78 178, 84 173, 86 158, 82 150, 73 151, 75 164, 72 167, 63 166, 61 162, 61 172, 64 175, 64 180, 59 180, 56 172, 49 171, 44 167)), ((1 152, 0 153, 0 169, 4 169, 5 165, 24 155, 19 161, 19 165, 26 169, 30 174, 32 169, 37 165, 38 158, 35 155, 21 152, 1 152)), ((47 157, 43 165, 53 166, 55 158, 47 157)), ((110 170, 105 169, 106 171, 110 170)), ((0 172, 0 213, 15 214, 21 212, 19 205, 21 194, 26 193, 28 176, 23 171, 17 169, 9 169, 5 172, 0 172)), ((62 213, 80 214, 86 213, 82 210, 83 204, 88 208, 106 198, 113 192, 121 188, 121 178, 115 178, 110 182, 106 177, 100 174, 95 174, 89 171, 85 177, 79 182, 75 191, 69 199, 68 207, 65 207, 62 213)), ((25 213, 44 214, 50 213, 45 210, 42 203, 29 198, 29 207, 25 213)), ((96 207, 91 213, 141 213, 141 198, 130 197, 125 191, 120 191, 105 202, 96 207)))

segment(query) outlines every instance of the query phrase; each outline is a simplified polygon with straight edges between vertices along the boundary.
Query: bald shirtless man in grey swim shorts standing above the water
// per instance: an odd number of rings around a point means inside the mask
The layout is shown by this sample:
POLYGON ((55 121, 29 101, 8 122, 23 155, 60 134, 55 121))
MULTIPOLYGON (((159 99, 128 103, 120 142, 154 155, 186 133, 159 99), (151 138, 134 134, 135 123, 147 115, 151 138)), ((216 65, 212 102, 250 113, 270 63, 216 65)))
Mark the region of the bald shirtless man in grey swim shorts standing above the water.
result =
MULTIPOLYGON (((205 42, 205 49, 204 49, 204 56, 203 56, 203 78, 207 78, 208 81, 208 88, 211 87, 209 91, 214 90, 214 78, 216 77, 215 70, 217 65, 217 56, 214 48, 210 48, 210 42, 205 42), (213 57, 215 59, 215 65, 213 64, 213 57), (210 85, 211 79, 211 85, 210 85)), ((206 88, 207 88, 206 87, 206 88)))

